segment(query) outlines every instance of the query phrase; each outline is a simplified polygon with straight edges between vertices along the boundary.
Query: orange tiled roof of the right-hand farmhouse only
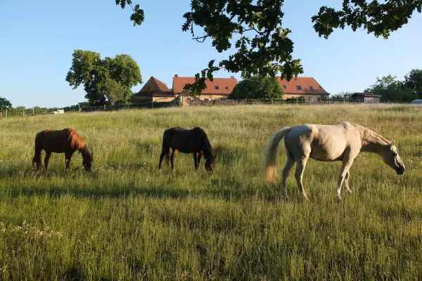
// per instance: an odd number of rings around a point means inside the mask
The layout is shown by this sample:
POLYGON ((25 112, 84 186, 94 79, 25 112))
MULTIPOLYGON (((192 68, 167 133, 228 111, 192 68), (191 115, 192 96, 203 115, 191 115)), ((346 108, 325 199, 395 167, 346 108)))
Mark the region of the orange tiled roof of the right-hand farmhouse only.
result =
POLYGON ((284 93, 292 95, 329 95, 313 77, 293 77, 290 81, 277 77, 284 93))

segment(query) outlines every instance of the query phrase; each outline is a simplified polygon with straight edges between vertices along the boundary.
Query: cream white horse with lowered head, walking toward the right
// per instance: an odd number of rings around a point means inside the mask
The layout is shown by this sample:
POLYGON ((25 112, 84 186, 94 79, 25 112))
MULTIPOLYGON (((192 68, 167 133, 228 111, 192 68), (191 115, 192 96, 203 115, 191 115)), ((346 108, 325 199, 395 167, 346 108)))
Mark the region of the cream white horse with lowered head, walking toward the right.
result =
POLYGON ((370 129, 351 122, 340 122, 335 125, 302 124, 284 127, 274 133, 265 149, 264 180, 274 182, 276 178, 276 152, 280 141, 284 138, 287 161, 283 169, 281 182, 286 197, 286 181, 290 170, 296 163, 296 183, 303 197, 307 195, 303 189, 303 171, 310 158, 324 162, 342 161, 335 192, 341 200, 341 186, 345 182, 347 192, 349 187, 350 166, 359 152, 374 152, 383 158, 385 164, 395 169, 397 174, 404 174, 404 164, 397 153, 394 141, 388 141, 383 136, 370 129))

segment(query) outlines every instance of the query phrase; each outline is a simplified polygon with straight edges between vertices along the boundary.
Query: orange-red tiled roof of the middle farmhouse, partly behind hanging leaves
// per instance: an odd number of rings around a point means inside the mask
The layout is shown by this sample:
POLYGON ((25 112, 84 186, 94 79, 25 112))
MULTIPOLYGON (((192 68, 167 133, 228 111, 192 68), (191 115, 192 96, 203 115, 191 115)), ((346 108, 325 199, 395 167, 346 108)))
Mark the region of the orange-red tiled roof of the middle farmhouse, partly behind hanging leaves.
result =
MULTIPOLYGON (((179 77, 178 75, 174 75, 173 92, 175 94, 183 92, 184 86, 186 84, 191 84, 194 81, 195 77, 179 77)), ((230 78, 214 78, 214 81, 207 79, 205 84, 207 85, 207 89, 202 92, 203 94, 229 96, 237 84, 237 79, 234 78, 234 76, 230 78)))

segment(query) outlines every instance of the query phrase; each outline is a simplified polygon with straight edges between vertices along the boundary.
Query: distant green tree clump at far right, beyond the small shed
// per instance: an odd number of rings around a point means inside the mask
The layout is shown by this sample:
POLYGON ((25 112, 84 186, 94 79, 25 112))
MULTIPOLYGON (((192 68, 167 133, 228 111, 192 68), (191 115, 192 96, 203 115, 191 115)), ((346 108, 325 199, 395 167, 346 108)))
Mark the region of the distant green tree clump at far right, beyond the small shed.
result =
POLYGON ((407 89, 403 81, 397 79, 397 77, 388 75, 381 78, 377 77, 376 84, 373 84, 368 89, 365 89, 366 93, 376 93, 383 96, 383 100, 398 101, 398 102, 409 102, 417 98, 414 91, 407 89))

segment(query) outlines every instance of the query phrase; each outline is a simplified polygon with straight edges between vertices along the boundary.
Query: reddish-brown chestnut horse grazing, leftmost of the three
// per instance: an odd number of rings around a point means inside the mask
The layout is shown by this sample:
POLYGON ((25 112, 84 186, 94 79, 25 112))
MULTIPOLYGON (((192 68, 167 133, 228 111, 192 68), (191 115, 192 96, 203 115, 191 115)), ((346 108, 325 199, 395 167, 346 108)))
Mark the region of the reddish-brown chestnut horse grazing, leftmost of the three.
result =
POLYGON ((92 169, 93 154, 87 148, 85 141, 74 129, 69 128, 58 131, 45 130, 37 133, 37 136, 35 136, 35 155, 32 159, 32 165, 37 164, 37 169, 41 166, 42 150, 46 151, 46 157, 44 158, 46 169, 49 166, 51 152, 65 153, 65 170, 67 171, 69 169, 70 159, 72 159, 72 155, 76 150, 79 150, 84 159, 82 164, 85 170, 91 171, 92 169))

